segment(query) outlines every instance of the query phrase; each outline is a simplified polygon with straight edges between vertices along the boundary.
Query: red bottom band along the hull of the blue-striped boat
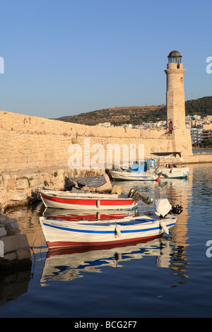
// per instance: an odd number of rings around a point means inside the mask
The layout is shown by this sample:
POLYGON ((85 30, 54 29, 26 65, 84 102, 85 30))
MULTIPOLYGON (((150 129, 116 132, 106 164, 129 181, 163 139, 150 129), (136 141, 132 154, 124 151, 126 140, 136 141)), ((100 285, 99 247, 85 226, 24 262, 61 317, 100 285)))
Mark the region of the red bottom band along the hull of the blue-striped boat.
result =
POLYGON ((107 241, 107 242, 49 242, 47 241, 47 247, 49 249, 54 248, 70 248, 70 247, 100 247, 100 246, 108 246, 113 244, 126 244, 131 242, 139 242, 143 240, 153 239, 156 237, 161 237, 161 235, 153 235, 149 237, 136 237, 134 239, 119 239, 116 241, 107 241))

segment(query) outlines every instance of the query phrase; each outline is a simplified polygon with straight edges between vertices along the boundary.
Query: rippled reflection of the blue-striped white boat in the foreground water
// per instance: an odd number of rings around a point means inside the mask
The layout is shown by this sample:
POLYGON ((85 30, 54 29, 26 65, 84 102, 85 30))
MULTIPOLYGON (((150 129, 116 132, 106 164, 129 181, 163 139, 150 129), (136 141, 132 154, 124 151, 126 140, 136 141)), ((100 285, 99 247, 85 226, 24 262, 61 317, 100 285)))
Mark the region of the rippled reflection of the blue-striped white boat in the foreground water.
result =
POLYGON ((101 273, 102 268, 110 266, 122 267, 122 262, 131 259, 142 259, 144 256, 155 256, 155 263, 160 268, 168 268, 173 244, 166 237, 158 237, 151 241, 139 242, 128 246, 117 247, 81 247, 55 249, 47 252, 45 266, 40 284, 47 286, 49 282, 68 281, 85 276, 86 273, 101 273))

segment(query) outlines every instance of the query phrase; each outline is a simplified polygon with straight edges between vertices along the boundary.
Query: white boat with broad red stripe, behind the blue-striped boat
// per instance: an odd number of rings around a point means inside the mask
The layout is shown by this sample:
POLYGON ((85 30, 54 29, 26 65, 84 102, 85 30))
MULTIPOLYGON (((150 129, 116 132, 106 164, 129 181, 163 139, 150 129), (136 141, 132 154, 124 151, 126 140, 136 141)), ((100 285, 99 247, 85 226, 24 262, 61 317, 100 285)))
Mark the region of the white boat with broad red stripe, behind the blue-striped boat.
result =
POLYGON ((133 210, 137 201, 125 194, 100 194, 40 189, 40 196, 46 208, 83 210, 133 210))

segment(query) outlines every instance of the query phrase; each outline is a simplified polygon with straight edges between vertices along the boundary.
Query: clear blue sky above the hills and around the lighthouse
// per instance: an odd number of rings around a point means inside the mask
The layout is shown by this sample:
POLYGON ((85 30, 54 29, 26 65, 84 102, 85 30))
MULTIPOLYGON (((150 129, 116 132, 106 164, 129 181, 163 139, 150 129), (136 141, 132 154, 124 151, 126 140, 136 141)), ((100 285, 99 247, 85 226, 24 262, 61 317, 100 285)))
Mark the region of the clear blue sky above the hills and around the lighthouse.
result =
POLYGON ((212 1, 0 0, 0 109, 55 118, 165 104, 167 55, 185 100, 212 95, 212 1))

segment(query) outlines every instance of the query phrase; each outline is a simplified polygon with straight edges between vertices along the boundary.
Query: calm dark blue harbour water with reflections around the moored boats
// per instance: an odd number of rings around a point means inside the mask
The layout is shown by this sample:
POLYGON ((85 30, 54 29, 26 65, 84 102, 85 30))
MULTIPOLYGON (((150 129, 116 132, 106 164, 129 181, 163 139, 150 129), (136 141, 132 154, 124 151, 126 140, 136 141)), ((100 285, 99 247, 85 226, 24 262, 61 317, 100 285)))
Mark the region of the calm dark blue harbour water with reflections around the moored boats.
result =
MULTIPOLYGON (((171 234, 146 243, 52 255, 38 221, 42 203, 6 211, 27 234, 33 265, 1 275, 0 317, 212 317, 212 165, 189 170, 187 180, 116 183, 183 206, 171 234)), ((139 205, 140 215, 148 211, 139 205)))

